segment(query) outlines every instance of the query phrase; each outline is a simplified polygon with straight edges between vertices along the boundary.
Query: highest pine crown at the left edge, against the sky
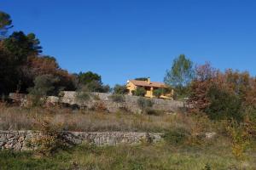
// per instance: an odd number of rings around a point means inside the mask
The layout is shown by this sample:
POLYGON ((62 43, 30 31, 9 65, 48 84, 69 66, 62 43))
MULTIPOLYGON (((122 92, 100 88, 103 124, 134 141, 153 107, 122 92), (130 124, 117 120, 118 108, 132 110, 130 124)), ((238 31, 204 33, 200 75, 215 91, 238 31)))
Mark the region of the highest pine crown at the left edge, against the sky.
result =
POLYGON ((7 31, 12 27, 12 20, 9 14, 0 11, 0 40, 5 37, 7 31))

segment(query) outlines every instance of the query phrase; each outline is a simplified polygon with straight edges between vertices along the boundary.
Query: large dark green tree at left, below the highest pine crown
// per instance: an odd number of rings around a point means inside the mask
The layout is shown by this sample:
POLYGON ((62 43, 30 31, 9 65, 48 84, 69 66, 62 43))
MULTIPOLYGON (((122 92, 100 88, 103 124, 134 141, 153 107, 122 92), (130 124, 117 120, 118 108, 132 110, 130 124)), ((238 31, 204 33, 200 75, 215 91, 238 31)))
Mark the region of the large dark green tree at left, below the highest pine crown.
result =
POLYGON ((41 52, 38 39, 34 34, 26 36, 22 31, 14 32, 4 39, 0 46, 0 79, 4 80, 3 91, 0 89, 0 92, 8 94, 20 89, 25 91, 26 84, 32 84, 32 81, 27 81, 24 77, 23 71, 28 70, 23 68, 26 67, 29 56, 36 56, 41 52))

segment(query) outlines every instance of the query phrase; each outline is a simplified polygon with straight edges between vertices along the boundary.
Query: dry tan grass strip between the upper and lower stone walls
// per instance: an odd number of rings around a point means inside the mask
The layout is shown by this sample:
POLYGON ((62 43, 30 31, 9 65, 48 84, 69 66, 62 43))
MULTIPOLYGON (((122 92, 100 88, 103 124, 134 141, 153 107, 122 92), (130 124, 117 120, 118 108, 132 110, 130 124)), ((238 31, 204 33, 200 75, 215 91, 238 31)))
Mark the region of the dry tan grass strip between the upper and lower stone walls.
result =
POLYGON ((50 117, 51 123, 70 131, 134 131, 163 132, 188 123, 182 115, 135 115, 126 112, 73 111, 67 108, 21 109, 15 106, 0 106, 1 130, 36 130, 36 120, 50 117))

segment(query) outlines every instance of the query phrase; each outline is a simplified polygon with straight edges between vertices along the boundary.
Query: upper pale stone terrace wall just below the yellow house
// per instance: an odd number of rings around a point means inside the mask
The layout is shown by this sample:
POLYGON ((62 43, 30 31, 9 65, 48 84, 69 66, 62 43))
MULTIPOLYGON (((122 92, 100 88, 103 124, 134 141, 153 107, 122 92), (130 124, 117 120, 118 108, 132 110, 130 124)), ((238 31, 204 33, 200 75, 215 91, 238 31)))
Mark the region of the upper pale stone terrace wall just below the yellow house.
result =
MULTIPOLYGON (((131 111, 133 113, 141 113, 141 108, 137 105, 137 100, 141 97, 124 95, 123 101, 113 101, 111 96, 113 94, 105 93, 91 93, 90 99, 77 98, 77 93, 73 91, 63 91, 61 92, 61 97, 49 96, 47 101, 49 104, 67 104, 67 105, 77 105, 80 108, 93 109, 94 107, 101 107, 109 112, 116 112, 120 109, 125 109, 126 111, 131 111)), ((27 105, 29 103, 26 100, 25 94, 9 94, 9 98, 15 101, 19 101, 21 105, 27 105)), ((148 98, 144 98, 148 99, 148 98)), ((172 113, 177 111, 179 108, 183 108, 183 102, 172 100, 172 99, 150 99, 154 105, 153 110, 165 111, 166 113, 172 113)))

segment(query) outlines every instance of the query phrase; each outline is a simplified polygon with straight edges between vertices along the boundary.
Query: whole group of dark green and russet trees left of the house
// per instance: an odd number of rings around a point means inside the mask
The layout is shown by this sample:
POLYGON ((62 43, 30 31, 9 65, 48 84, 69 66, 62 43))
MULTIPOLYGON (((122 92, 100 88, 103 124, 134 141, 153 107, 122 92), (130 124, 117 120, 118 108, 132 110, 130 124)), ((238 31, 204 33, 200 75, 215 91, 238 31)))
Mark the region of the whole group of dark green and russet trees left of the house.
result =
MULTIPOLYGON (((0 11, 0 94, 28 93, 37 88, 35 81, 51 75, 58 79, 54 83, 54 94, 59 89, 76 90, 86 87, 90 92, 108 92, 108 85, 91 71, 70 74, 61 69, 55 57, 42 55, 43 48, 35 34, 14 31, 9 14, 0 11), (10 33, 10 35, 9 35, 10 33)), ((46 92, 44 92, 46 93, 46 92)))

